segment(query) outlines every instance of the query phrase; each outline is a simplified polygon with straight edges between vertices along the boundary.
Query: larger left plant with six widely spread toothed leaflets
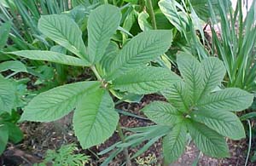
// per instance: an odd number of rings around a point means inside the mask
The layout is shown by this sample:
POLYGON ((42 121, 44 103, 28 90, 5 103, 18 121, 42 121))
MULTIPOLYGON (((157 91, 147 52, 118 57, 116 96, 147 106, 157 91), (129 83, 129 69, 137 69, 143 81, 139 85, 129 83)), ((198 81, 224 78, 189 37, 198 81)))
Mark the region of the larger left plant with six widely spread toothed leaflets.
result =
POLYGON ((113 135, 119 122, 111 95, 116 92, 149 94, 176 82, 168 69, 148 66, 169 49, 172 31, 145 31, 119 49, 110 42, 121 20, 117 7, 106 4, 90 12, 88 47, 79 26, 64 14, 44 15, 38 29, 75 56, 53 51, 22 50, 16 54, 31 60, 47 60, 69 66, 90 67, 97 81, 70 83, 38 94, 25 107, 20 121, 49 122, 74 109, 73 128, 83 148, 101 144, 113 135), (113 51, 109 51, 112 50, 113 51))

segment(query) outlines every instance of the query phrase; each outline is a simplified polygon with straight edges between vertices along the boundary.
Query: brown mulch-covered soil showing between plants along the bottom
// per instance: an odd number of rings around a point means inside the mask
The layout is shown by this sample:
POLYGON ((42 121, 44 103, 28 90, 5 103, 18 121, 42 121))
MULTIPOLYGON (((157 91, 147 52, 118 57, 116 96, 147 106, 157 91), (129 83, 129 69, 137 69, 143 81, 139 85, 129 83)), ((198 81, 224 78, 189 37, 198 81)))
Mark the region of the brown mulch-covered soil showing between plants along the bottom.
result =
MULTIPOLYGON (((164 97, 158 94, 148 94, 143 100, 138 104, 128 104, 121 103, 119 108, 122 108, 125 112, 135 113, 138 116, 143 116, 142 112, 139 112, 143 106, 154 100, 165 100, 164 97)), ((43 161, 45 152, 49 149, 58 149, 61 145, 76 143, 79 145, 79 141, 74 136, 72 129, 72 117, 73 113, 70 113, 66 117, 62 117, 60 120, 53 123, 20 123, 20 128, 24 132, 24 140, 20 144, 12 145, 9 144, 8 150, 3 153, 0 163, 4 166, 31 166, 32 163, 40 163, 43 161)), ((137 117, 127 117, 120 116, 120 123, 125 128, 143 127, 148 125, 153 125, 154 123, 149 120, 140 119, 137 117)), ((129 133, 126 133, 129 135, 129 133)), ((119 136, 115 133, 111 138, 109 138, 105 143, 99 146, 94 146, 90 148, 90 151, 84 151, 80 146, 77 152, 84 153, 90 156, 90 163, 86 164, 88 166, 98 166, 102 163, 107 156, 97 156, 98 152, 106 149, 108 146, 113 145, 115 142, 119 141, 119 136)), ((240 141, 228 140, 228 145, 230 147, 230 158, 216 159, 212 157, 207 157, 200 154, 198 149, 193 143, 186 146, 186 151, 183 156, 178 159, 176 163, 170 164, 170 166, 189 166, 195 163, 197 157, 199 157, 198 166, 233 166, 233 165, 244 165, 247 157, 247 145, 248 140, 243 139, 240 141)), ((253 141, 253 147, 256 145, 253 141)), ((129 149, 129 153, 132 156, 138 151, 141 146, 137 148, 129 149)), ((160 140, 154 143, 148 151, 144 152, 143 155, 132 160, 132 165, 141 166, 139 163, 147 161, 147 157, 152 158, 152 166, 160 166, 162 163, 161 155, 161 143, 160 140)), ((113 159, 113 162, 109 166, 119 166, 121 163, 125 162, 125 157, 123 153, 120 153, 117 157, 113 159)), ((253 166, 254 163, 247 163, 247 166, 253 166)))

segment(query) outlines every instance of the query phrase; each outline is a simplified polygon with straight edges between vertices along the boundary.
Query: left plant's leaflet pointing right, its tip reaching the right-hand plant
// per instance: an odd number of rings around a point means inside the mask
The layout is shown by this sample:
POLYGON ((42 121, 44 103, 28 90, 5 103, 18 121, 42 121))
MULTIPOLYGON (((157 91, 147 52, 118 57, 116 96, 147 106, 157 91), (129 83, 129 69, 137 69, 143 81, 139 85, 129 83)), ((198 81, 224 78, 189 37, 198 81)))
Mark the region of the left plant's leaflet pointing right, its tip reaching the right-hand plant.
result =
POLYGON ((134 94, 152 94, 180 81, 174 72, 160 67, 138 68, 113 80, 113 89, 134 94))

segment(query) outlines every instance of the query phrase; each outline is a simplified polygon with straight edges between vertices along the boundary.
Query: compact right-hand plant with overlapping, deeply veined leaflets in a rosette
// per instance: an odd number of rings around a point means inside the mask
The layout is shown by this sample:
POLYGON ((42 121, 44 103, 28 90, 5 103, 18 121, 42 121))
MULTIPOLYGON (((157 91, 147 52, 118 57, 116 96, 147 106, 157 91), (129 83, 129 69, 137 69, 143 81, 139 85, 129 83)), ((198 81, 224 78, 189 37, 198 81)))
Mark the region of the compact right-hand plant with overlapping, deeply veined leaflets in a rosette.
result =
POLYGON ((218 58, 200 63, 192 55, 181 53, 177 54, 177 66, 183 78, 162 92, 168 102, 154 101, 143 108, 154 123, 172 129, 162 144, 166 163, 182 155, 188 133, 201 152, 229 157, 224 137, 245 138, 241 121, 233 112, 251 106, 253 94, 237 88, 218 88, 225 75, 218 58))

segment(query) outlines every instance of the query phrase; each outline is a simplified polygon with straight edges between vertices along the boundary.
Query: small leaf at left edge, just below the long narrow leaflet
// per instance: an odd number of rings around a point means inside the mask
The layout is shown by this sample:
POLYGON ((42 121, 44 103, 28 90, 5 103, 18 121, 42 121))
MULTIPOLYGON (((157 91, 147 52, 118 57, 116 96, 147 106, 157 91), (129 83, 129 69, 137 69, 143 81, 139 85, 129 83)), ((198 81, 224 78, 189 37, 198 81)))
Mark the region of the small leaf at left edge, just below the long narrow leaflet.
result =
POLYGON ((13 72, 27 72, 26 66, 17 60, 4 61, 0 64, 0 72, 11 70, 13 72))

